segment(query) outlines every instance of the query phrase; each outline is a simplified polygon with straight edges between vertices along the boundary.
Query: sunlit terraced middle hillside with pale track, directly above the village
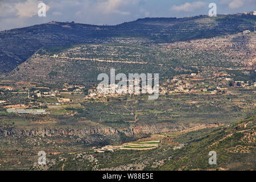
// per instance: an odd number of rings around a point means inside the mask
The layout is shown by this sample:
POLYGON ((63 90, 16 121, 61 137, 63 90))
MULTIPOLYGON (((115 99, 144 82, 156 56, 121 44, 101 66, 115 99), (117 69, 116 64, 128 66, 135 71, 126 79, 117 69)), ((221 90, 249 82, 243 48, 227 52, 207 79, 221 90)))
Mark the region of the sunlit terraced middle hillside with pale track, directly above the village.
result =
POLYGON ((160 73, 161 78, 193 72, 229 73, 233 69, 236 79, 250 80, 245 71, 255 68, 255 42, 256 34, 251 33, 177 43, 148 44, 144 39, 113 38, 113 43, 45 47, 6 79, 95 84, 98 74, 109 74, 110 68, 115 68, 116 74, 160 73))

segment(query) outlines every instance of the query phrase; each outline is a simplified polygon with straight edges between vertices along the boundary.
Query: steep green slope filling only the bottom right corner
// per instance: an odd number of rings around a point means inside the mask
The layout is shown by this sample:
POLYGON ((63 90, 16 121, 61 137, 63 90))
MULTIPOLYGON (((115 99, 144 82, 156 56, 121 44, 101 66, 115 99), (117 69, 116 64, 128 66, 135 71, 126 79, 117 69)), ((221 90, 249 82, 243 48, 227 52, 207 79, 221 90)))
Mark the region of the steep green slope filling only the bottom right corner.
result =
POLYGON ((256 115, 194 140, 160 169, 255 170, 255 122, 256 115), (216 165, 207 163, 209 151, 216 151, 216 165))

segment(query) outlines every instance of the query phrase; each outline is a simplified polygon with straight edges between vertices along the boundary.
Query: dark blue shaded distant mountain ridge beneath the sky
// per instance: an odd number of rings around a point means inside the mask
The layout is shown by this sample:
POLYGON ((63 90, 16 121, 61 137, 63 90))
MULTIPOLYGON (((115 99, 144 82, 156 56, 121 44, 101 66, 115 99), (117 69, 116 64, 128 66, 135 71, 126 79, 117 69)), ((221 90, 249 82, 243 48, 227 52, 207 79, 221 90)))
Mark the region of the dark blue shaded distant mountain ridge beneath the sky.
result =
POLYGON ((144 18, 117 26, 50 22, 0 32, 0 73, 9 73, 38 49, 81 43, 112 42, 112 38, 139 38, 172 43, 253 31, 256 16, 218 15, 192 18, 144 18), (24 49, 26 48, 26 49, 24 49))

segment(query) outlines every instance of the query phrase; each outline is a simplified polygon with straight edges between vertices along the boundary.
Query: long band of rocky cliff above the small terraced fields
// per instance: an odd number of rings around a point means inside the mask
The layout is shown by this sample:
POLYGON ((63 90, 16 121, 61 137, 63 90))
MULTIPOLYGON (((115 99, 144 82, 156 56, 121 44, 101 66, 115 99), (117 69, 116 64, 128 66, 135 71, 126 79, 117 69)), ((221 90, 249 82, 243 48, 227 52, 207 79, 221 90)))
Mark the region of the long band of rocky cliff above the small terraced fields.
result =
POLYGON ((167 125, 167 124, 154 124, 154 125, 135 125, 127 130, 117 130, 112 127, 97 127, 97 128, 81 128, 81 129, 50 129, 46 127, 37 129, 5 129, 0 128, 0 136, 2 137, 79 137, 84 138, 88 135, 102 135, 109 136, 115 135, 120 132, 125 133, 127 136, 136 136, 139 134, 158 134, 170 131, 183 130, 183 126, 167 125))

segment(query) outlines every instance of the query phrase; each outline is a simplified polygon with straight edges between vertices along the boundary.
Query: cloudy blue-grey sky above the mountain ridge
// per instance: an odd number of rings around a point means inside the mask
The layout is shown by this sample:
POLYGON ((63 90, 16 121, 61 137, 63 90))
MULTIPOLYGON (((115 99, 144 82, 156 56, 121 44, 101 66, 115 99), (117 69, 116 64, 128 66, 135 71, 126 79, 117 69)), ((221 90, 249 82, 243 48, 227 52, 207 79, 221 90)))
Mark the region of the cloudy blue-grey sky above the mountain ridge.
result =
POLYGON ((217 14, 256 10, 256 0, 0 0, 0 31, 51 21, 115 25, 145 17, 208 15, 209 3, 216 3, 217 14), (38 15, 39 3, 46 5, 46 16, 38 15))

